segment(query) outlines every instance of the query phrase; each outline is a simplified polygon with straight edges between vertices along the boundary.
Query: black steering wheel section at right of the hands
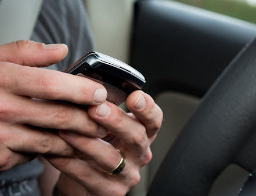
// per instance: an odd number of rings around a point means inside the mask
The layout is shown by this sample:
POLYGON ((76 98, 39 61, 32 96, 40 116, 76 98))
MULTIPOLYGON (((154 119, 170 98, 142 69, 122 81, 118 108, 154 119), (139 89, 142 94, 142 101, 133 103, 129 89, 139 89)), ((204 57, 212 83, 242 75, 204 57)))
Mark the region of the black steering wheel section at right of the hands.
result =
POLYGON ((232 163, 254 173, 255 130, 256 39, 208 90, 168 151, 147 195, 207 195, 219 173, 232 163))

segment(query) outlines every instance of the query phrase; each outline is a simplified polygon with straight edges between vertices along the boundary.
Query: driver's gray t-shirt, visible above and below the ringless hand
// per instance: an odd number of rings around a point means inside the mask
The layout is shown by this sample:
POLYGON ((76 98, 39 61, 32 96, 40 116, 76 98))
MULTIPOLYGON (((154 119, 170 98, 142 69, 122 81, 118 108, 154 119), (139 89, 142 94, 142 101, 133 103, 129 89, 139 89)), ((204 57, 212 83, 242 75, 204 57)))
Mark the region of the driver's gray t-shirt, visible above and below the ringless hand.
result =
MULTIPOLYGON (((93 50, 88 16, 82 1, 44 0, 31 39, 46 44, 66 43, 68 55, 62 62, 48 67, 53 70, 64 71, 93 50)), ((0 173, 0 196, 39 196, 38 176, 42 171, 43 166, 36 158, 0 173)))

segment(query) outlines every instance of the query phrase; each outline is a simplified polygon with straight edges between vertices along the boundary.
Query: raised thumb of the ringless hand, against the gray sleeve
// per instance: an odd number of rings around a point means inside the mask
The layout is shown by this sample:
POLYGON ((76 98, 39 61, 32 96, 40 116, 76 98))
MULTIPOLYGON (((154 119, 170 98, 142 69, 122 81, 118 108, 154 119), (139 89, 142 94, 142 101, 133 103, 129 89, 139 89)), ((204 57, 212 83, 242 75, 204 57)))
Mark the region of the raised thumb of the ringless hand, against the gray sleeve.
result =
POLYGON ((67 45, 63 43, 45 45, 30 40, 19 40, 0 45, 0 61, 22 66, 46 67, 63 60, 67 50, 67 45))

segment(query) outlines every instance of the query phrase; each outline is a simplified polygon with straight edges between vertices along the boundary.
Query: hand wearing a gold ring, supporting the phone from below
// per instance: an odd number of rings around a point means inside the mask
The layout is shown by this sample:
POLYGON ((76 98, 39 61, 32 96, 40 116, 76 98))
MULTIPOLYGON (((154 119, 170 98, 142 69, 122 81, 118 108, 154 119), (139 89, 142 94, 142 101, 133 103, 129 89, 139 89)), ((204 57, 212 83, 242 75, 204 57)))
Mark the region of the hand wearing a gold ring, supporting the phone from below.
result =
POLYGON ((139 182, 140 168, 152 159, 150 144, 160 129, 163 112, 152 97, 139 90, 128 97, 127 107, 132 113, 107 101, 89 108, 89 116, 109 131, 104 140, 59 132, 85 154, 79 159, 47 158, 62 172, 57 183, 59 195, 125 195, 139 182), (116 149, 124 155, 126 165, 121 173, 111 176, 104 170, 116 168, 120 162, 116 149))

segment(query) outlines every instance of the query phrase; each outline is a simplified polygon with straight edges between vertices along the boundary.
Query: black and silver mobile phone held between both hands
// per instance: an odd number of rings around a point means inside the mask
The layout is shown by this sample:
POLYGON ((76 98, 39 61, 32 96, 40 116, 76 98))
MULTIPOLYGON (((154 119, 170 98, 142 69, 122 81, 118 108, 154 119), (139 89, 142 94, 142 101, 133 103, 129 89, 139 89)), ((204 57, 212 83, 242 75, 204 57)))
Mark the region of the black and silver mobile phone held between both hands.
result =
POLYGON ((99 82, 107 90, 107 100, 117 106, 146 83, 139 71, 98 52, 89 52, 64 72, 99 82))

